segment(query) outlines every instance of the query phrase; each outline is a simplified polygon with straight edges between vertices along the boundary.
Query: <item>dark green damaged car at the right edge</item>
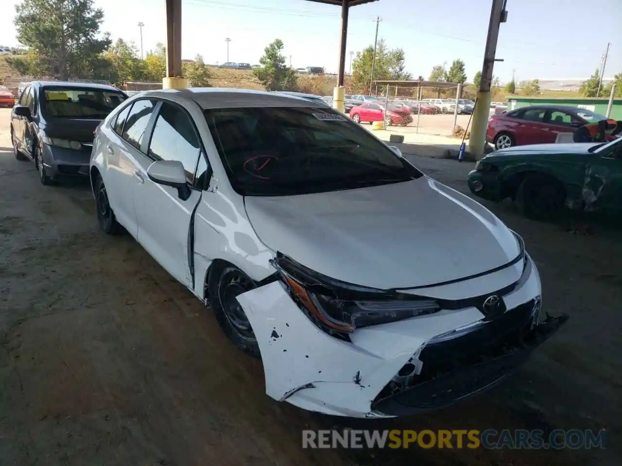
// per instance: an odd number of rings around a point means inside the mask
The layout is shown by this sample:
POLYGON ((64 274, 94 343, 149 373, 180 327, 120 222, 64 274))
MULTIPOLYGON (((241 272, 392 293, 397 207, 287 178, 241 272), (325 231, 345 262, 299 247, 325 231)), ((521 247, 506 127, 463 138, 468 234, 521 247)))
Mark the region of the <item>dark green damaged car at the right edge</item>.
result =
POLYGON ((497 150, 468 174, 471 193, 511 198, 532 219, 564 207, 622 213, 622 138, 608 143, 534 144, 497 150))

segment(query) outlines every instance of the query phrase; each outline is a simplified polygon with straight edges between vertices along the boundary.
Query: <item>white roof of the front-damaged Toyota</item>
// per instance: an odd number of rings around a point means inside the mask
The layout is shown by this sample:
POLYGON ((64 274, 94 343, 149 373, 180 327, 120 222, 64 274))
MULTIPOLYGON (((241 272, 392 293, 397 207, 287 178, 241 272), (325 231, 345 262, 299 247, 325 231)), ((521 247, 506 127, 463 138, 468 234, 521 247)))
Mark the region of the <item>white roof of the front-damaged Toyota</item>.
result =
MULTIPOLYGON (((316 103, 302 96, 281 92, 254 91, 237 88, 186 88, 158 89, 143 91, 140 98, 160 97, 173 101, 190 99, 202 109, 239 108, 239 107, 318 107, 326 104, 316 103)), ((317 96, 313 96, 318 98, 317 96)))

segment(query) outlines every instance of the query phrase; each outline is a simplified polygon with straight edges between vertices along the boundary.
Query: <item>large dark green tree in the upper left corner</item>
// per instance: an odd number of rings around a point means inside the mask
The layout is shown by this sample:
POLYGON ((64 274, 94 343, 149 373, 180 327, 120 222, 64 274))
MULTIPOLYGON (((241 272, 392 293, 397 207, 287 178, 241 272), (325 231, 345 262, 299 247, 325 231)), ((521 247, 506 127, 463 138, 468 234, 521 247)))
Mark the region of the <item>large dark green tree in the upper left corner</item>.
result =
POLYGON ((24 0, 13 20, 17 40, 29 47, 29 62, 12 60, 61 80, 90 77, 111 40, 100 34, 104 12, 93 0, 24 0), (86 75, 86 76, 85 76, 86 75))

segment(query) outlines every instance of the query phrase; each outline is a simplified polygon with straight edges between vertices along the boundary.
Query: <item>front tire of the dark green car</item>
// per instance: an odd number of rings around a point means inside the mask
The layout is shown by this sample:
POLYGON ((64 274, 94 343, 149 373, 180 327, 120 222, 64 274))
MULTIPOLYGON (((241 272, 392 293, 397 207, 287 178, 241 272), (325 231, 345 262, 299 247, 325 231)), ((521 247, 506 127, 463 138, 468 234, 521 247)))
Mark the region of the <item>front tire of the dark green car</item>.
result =
POLYGON ((564 209, 564 186, 551 176, 527 175, 516 191, 516 206, 529 219, 552 220, 564 209))

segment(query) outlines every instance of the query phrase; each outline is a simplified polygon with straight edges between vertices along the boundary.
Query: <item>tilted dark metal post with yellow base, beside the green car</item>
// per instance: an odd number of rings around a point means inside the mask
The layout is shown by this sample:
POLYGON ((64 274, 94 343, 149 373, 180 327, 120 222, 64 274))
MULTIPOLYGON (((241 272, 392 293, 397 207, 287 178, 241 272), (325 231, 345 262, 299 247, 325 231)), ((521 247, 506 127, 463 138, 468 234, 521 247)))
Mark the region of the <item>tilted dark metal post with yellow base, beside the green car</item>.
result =
POLYGON ((499 28, 501 23, 508 21, 506 3, 507 0, 493 0, 490 10, 484 63, 481 68, 480 90, 477 93, 475 109, 473 109, 473 126, 471 126, 471 137, 468 142, 469 152, 478 158, 484 153, 486 145, 486 127, 488 126, 488 113, 492 99, 490 87, 493 81, 494 62, 503 62, 503 60, 495 58, 495 54, 499 39, 499 28))

